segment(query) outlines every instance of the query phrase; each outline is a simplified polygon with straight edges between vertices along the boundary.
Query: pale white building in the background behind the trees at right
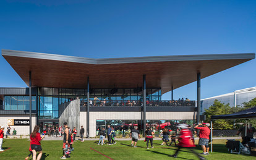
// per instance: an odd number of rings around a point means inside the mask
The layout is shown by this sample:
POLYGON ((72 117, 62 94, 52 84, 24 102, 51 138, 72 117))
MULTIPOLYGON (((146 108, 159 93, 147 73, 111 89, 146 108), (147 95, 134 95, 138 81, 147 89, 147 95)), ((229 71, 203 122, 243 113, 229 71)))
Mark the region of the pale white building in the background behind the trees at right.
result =
POLYGON ((228 104, 229 106, 242 106, 242 103, 249 102, 250 100, 256 98, 256 86, 251 88, 245 88, 242 90, 236 90, 231 93, 226 93, 224 95, 213 96, 210 98, 201 99, 201 111, 202 114, 205 109, 208 109, 215 99, 221 103, 228 104), (235 100, 236 99, 236 100, 235 100))

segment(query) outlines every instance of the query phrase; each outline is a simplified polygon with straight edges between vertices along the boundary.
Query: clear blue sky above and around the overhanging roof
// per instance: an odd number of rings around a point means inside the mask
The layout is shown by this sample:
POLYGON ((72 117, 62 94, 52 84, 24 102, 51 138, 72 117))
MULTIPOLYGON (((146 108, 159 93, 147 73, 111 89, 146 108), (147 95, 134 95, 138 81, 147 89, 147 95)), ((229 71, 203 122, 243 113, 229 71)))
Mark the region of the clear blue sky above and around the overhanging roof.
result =
MULTIPOLYGON (((256 53, 256 1, 0 1, 0 49, 109 58, 256 53)), ((202 79, 202 98, 256 86, 256 60, 202 79)), ((25 87, 0 57, 0 87, 25 87)), ((174 99, 196 99, 196 83, 174 99)), ((163 99, 171 99, 166 93, 163 99)))

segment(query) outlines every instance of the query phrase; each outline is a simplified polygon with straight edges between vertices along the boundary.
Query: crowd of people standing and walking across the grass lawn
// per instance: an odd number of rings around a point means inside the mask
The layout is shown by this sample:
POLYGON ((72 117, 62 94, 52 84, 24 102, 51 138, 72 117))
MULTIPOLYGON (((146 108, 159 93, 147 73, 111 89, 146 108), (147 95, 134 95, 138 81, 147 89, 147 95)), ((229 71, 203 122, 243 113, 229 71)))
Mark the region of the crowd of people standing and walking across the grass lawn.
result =
MULTIPOLYGON (((30 153, 25 159, 28 159, 31 155, 33 155, 33 160, 34 159, 41 159, 42 156, 42 148, 41 148, 41 141, 45 138, 45 135, 52 135, 51 133, 54 131, 54 133, 59 133, 60 137, 63 137, 63 143, 62 143, 62 149, 63 149, 63 154, 61 156, 61 159, 66 159, 70 158, 70 153, 71 151, 74 150, 72 147, 72 144, 74 144, 75 137, 80 133, 81 141, 83 141, 84 133, 85 130, 83 126, 80 128, 80 132, 74 127, 72 130, 70 127, 68 127, 67 122, 64 122, 64 127, 62 128, 61 126, 59 127, 44 127, 43 128, 43 134, 42 137, 40 135, 40 127, 38 125, 35 126, 33 129, 32 134, 30 135, 30 147, 29 151, 30 153), (52 131, 53 130, 53 131, 52 131), (57 130, 57 131, 56 131, 57 130), (37 158, 36 158, 36 154, 37 158)), ((210 124, 208 123, 203 123, 203 124, 198 124, 192 127, 191 125, 187 124, 179 124, 176 126, 177 131, 171 133, 167 127, 165 127, 163 130, 160 130, 160 137, 162 137, 163 143, 161 145, 167 145, 171 146, 174 143, 174 146, 177 146, 176 152, 171 155, 173 158, 177 158, 177 155, 179 151, 182 148, 187 148, 191 153, 194 153, 199 159, 205 159, 202 155, 208 155, 209 154, 209 145, 208 143, 210 142, 210 124), (196 132, 198 130, 199 132, 196 132), (194 141, 194 135, 198 133, 199 141, 198 145, 201 146, 203 153, 198 154, 196 151, 194 151, 195 147, 195 141, 194 141), (171 141, 169 140, 171 138, 171 141), (179 143, 176 144, 176 140, 178 140, 179 143)), ((11 127, 7 128, 7 130, 10 129, 11 127)), ((248 137, 253 137, 253 133, 256 132, 255 128, 249 125, 247 128, 247 136, 248 137), (249 134, 248 134, 249 133, 249 134), (250 134, 251 133, 251 134, 250 134)), ((242 133, 242 140, 245 141, 245 127, 241 127, 239 131, 237 132, 237 135, 239 133, 242 133)), ((145 131, 145 142, 147 145, 147 149, 153 149, 153 135, 155 134, 155 130, 153 128, 148 127, 147 130, 145 131)), ((116 137, 116 130, 114 129, 113 126, 107 125, 107 129, 105 130, 105 127, 100 129, 100 132, 98 132, 98 135, 100 135, 100 140, 98 141, 98 145, 104 145, 105 144, 105 138, 108 138, 108 145, 114 145, 117 143, 115 140, 116 137)), ((130 138, 132 139, 131 141, 131 146, 134 148, 137 148, 137 141, 139 138, 141 138, 140 131, 138 130, 137 126, 134 126, 131 128, 130 133, 129 133, 130 138)), ((2 140, 4 137, 4 127, 1 127, 0 130, 0 151, 4 151, 2 149, 2 140)))

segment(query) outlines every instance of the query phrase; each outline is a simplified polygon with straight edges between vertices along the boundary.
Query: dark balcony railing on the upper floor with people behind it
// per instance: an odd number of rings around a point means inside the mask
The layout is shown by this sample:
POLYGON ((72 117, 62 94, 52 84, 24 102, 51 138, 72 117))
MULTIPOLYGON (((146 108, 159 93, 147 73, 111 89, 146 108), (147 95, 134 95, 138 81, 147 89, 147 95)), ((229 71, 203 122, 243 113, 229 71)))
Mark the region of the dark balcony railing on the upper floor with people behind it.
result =
MULTIPOLYGON (((90 101, 89 102, 90 107, 105 107, 105 106, 143 106, 142 101, 90 101)), ((195 101, 185 100, 185 101, 147 101, 147 106, 195 106, 195 101)), ((87 101, 80 101, 81 107, 87 106, 87 101)))

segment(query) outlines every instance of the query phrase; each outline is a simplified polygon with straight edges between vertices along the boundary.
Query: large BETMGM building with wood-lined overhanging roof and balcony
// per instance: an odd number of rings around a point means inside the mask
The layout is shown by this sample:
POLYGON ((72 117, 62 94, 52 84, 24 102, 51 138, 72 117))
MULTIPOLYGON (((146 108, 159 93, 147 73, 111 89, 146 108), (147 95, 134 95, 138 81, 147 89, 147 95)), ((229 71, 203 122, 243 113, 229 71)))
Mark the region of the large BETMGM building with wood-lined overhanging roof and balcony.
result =
POLYGON ((200 101, 201 78, 255 58, 249 53, 88 59, 11 50, 2 56, 29 88, 0 88, 0 125, 28 135, 35 124, 66 121, 71 128, 83 125, 87 137, 106 124, 124 131, 194 123, 200 104, 173 96, 161 101, 161 95, 197 81, 200 101))

